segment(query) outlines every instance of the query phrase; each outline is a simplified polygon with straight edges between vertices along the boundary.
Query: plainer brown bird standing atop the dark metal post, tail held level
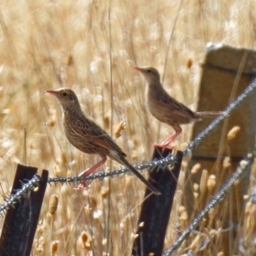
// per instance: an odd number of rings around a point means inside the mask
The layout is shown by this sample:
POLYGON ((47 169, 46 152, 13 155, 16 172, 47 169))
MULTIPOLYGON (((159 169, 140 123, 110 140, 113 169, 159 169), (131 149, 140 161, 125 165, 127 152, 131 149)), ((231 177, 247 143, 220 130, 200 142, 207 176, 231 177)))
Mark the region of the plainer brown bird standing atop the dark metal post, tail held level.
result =
POLYGON ((205 116, 225 115, 221 111, 194 112, 184 104, 173 99, 160 82, 160 75, 156 68, 152 67, 133 67, 143 74, 147 82, 147 105, 148 109, 159 121, 173 127, 174 133, 161 145, 163 148, 168 145, 182 132, 181 124, 190 124, 199 121, 205 116))

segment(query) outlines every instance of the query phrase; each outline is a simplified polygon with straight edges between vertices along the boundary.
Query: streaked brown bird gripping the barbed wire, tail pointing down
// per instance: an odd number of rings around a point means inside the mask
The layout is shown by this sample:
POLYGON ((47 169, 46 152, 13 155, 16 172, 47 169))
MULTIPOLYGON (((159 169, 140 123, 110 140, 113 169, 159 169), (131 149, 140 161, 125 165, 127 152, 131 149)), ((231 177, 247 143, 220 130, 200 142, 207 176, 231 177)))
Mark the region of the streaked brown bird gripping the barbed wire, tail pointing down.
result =
MULTIPOLYGON (((76 148, 87 154, 98 154, 102 159, 99 163, 84 170, 79 177, 86 177, 94 172, 107 160, 107 156, 120 164, 124 164, 154 193, 159 194, 156 188, 146 180, 126 159, 126 154, 113 141, 108 133, 93 122, 92 118, 84 115, 76 93, 69 88, 46 90, 56 96, 62 108, 64 131, 68 141, 76 148)), ((79 188, 84 188, 86 182, 81 182, 79 188)))

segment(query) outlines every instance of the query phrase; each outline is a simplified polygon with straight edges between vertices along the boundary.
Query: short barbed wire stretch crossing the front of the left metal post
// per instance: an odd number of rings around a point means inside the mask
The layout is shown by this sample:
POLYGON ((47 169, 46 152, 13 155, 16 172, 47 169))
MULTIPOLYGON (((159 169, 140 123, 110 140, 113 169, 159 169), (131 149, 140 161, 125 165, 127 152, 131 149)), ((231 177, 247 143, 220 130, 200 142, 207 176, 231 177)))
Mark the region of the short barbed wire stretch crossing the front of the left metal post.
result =
POLYGON ((19 202, 20 198, 28 195, 28 192, 30 190, 33 190, 38 186, 39 181, 40 181, 40 177, 38 175, 35 175, 33 179, 28 180, 28 183, 23 182, 22 188, 15 191, 16 193, 14 195, 10 195, 9 198, 8 196, 4 196, 5 203, 0 205, 0 216, 3 217, 5 212, 10 207, 15 207, 15 204, 19 202))

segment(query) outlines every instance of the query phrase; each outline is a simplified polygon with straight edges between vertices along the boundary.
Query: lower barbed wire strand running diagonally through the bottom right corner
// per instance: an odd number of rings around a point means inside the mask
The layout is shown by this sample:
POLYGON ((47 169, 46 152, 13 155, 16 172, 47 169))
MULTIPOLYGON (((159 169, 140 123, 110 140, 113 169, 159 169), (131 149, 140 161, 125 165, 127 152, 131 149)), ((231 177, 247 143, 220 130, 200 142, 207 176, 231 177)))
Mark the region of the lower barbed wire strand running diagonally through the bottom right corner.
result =
POLYGON ((204 218, 205 214, 207 214, 207 212, 209 212, 209 210, 211 208, 213 208, 214 205, 216 205, 218 202, 220 202, 220 200, 223 199, 223 197, 227 193, 228 189, 232 186, 234 181, 237 179, 241 179, 241 176, 243 174, 246 175, 246 172, 248 170, 250 170, 250 166, 253 163, 254 157, 255 157, 255 151, 253 152, 253 154, 248 154, 248 157, 246 159, 244 159, 245 161, 244 161, 243 166, 239 166, 237 168, 236 172, 232 175, 232 177, 230 179, 228 179, 227 182, 225 182, 225 184, 222 186, 219 193, 216 196, 214 196, 214 198, 212 198, 212 200, 209 202, 209 204, 207 204, 207 206, 204 208, 204 210, 202 210, 198 214, 198 216, 192 221, 192 223, 189 225, 189 227, 184 231, 182 236, 180 236, 177 239, 177 241, 170 248, 168 248, 168 250, 166 250, 166 252, 164 252, 163 256, 171 255, 171 253, 173 253, 175 250, 177 250, 177 248, 180 247, 180 245, 188 238, 189 234, 193 230, 195 230, 195 228, 198 226, 200 221, 204 218))

